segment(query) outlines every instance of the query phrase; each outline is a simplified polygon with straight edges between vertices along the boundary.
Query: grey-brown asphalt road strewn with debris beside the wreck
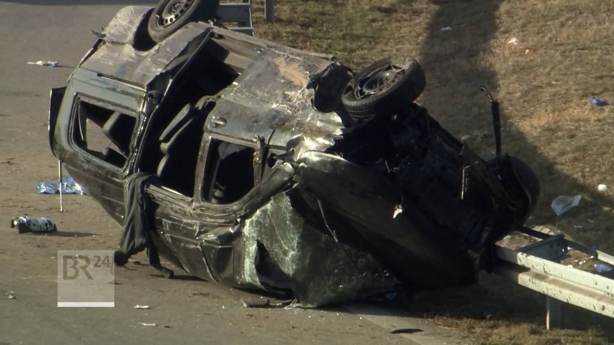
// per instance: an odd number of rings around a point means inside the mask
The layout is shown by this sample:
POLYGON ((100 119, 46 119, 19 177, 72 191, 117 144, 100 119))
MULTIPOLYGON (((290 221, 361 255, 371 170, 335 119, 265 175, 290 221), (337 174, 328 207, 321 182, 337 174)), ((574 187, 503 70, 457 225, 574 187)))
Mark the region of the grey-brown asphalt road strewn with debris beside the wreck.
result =
MULTIPOLYGON (((58 308, 57 251, 115 249, 121 228, 88 196, 65 195, 60 212, 58 195, 34 192, 37 182, 57 178, 47 134, 49 89, 65 85, 93 45, 90 29, 106 26, 123 6, 153 2, 0 1, 0 345, 414 344, 391 334, 385 316, 367 316, 368 308, 245 308, 241 298, 259 295, 177 268, 176 279, 166 280, 137 263, 115 271, 114 308, 58 308), (60 67, 28 64, 38 60, 60 67), (9 223, 20 215, 50 217, 59 231, 18 235, 9 223)), ((142 254, 134 258, 147 262, 142 254)), ((402 327, 405 319, 395 322, 402 327)))

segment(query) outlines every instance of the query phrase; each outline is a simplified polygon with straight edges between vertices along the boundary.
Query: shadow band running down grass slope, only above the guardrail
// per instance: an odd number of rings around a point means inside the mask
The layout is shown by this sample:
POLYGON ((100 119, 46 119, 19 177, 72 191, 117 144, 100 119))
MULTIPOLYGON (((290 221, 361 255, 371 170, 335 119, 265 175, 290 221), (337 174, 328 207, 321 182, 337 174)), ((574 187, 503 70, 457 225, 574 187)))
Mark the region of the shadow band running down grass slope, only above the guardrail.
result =
MULTIPOLYGON (((457 138, 484 131, 492 133, 490 106, 480 87, 488 88, 495 98, 498 98, 500 83, 505 83, 505 80, 499 80, 495 71, 489 68, 488 61, 484 61, 484 55, 491 50, 491 41, 497 33, 497 14, 502 0, 432 2, 437 4, 438 9, 429 22, 427 37, 422 42, 419 53, 420 63, 426 70, 427 87, 418 102, 426 106, 429 113, 457 138), (441 31, 442 28, 448 27, 451 29, 441 31), (454 99, 454 102, 451 99, 454 99)), ((582 244, 600 244, 601 249, 606 252, 614 250, 614 234, 611 231, 591 233, 573 227, 593 221, 602 225, 614 223, 612 200, 606 194, 599 193, 596 185, 586 186, 575 177, 561 172, 544 157, 539 147, 529 142, 521 131, 516 130, 506 116, 508 109, 505 107, 505 99, 499 101, 503 126, 502 152, 526 161, 542 181, 542 193, 536 212, 527 223, 556 224, 566 235, 582 244), (582 195, 580 207, 572 209, 562 217, 556 217, 550 204, 559 195, 582 195)), ((552 131, 552 138, 562 141, 561 145, 564 145, 566 140, 573 140, 573 137, 561 138, 557 128, 546 128, 543 131, 547 133, 549 130, 552 131)), ((470 141, 469 145, 484 158, 494 155, 492 136, 491 139, 470 141)), ((584 228, 588 227, 585 225, 584 228)))

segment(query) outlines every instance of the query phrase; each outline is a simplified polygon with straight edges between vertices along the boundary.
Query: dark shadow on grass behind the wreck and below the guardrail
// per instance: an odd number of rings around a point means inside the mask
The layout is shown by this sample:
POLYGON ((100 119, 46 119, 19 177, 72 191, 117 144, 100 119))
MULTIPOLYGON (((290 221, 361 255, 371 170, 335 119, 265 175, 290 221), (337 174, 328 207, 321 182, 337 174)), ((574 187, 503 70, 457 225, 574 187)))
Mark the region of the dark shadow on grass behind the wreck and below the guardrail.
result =
MULTIPOLYGON (((418 102, 459 138, 475 131, 492 133, 490 106, 480 87, 489 88, 497 98, 500 80, 484 61, 484 54, 491 49, 491 41, 497 33, 497 15, 502 0, 432 2, 437 4, 438 9, 429 22, 427 37, 419 53, 420 63, 426 71, 427 87, 418 102), (447 27, 451 29, 441 30, 447 27), (457 100, 456 103, 451 99, 457 100)), ((596 190, 559 171, 523 133, 511 130, 513 126, 505 115, 505 100, 501 101, 503 153, 526 161, 542 180, 542 197, 538 204, 540 211, 529 220, 530 223, 555 223, 556 217, 550 203, 554 196, 561 194, 581 194, 585 204, 611 203, 596 190)), ((492 139, 470 145, 476 146, 478 152, 494 153, 492 139)), ((572 210, 569 215, 573 216, 573 212, 577 211, 572 210)), ((595 212, 602 213, 595 215, 599 219, 614 223, 612 213, 595 212)), ((609 247, 612 249, 612 246, 609 247)), ((545 305, 545 296, 494 276, 486 279, 483 286, 418 293, 409 310, 417 316, 450 316, 457 319, 488 317, 517 324, 534 322, 543 325, 545 305)), ((565 328, 586 330, 596 326, 604 331, 613 330, 608 331, 607 336, 614 339, 614 320, 569 304, 564 304, 562 312, 565 328)))

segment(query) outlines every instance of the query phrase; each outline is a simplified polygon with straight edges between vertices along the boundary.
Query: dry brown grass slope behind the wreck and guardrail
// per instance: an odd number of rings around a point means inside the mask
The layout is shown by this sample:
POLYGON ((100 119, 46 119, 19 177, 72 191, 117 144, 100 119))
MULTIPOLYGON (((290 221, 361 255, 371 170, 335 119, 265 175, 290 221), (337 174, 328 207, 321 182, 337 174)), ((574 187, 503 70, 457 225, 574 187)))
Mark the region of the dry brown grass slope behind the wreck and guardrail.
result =
MULTIPOLYGON (((418 101, 456 136, 491 130, 479 87, 490 88, 502 104, 503 151, 542 179, 530 222, 614 252, 613 110, 589 103, 599 96, 614 104, 614 1, 276 0, 274 24, 263 19, 263 2, 255 0, 258 36, 334 53, 356 69, 382 56, 418 58, 428 82, 418 101), (508 44, 512 37, 521 43, 508 44), (598 184, 610 190, 597 192, 598 184), (580 206, 556 217, 551 201, 577 194, 580 206)), ((492 139, 472 145, 494 152, 492 139)), ((614 329, 610 320, 575 308, 565 309, 573 311, 566 326, 580 331, 546 332, 544 298, 496 277, 427 296, 422 312, 484 344, 611 343, 598 330, 614 329), (480 309, 493 317, 481 320, 480 309)))

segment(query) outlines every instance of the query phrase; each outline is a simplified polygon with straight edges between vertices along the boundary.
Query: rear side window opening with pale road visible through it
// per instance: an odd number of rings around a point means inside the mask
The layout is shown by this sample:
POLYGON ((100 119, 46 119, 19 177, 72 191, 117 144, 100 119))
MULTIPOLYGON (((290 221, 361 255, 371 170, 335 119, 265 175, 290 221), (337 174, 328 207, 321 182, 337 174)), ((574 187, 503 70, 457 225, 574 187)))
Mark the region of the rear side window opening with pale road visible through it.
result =
POLYGON ((72 139, 85 152, 119 168, 128 160, 136 118, 80 100, 72 139))

